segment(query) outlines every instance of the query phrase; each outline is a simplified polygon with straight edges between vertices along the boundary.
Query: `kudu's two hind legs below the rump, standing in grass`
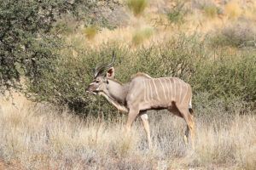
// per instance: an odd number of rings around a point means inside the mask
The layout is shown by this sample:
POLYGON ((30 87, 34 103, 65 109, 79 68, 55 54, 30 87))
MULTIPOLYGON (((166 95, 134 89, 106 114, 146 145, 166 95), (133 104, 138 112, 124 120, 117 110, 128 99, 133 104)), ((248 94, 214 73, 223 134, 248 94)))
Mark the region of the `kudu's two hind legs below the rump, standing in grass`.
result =
POLYGON ((189 131, 190 131, 190 137, 191 137, 191 145, 192 148, 195 149, 195 144, 194 144, 194 136, 195 136, 195 132, 194 132, 194 122, 193 122, 193 116, 189 113, 189 108, 179 108, 177 106, 177 109, 180 111, 180 113, 182 114, 185 122, 187 123, 187 129, 185 131, 185 135, 184 135, 184 142, 185 144, 188 144, 188 138, 189 138, 189 131))

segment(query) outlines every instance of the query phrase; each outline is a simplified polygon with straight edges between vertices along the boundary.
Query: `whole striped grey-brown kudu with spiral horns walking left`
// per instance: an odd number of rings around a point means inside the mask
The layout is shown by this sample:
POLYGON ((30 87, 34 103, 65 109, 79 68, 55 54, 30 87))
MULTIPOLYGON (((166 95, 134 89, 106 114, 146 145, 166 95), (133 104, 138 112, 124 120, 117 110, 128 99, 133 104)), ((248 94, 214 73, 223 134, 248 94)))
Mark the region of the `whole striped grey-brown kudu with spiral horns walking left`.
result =
POLYGON ((151 147, 151 139, 148 125, 148 110, 162 110, 172 112, 182 117, 187 123, 187 129, 183 137, 188 144, 190 131, 191 144, 194 148, 194 122, 191 105, 192 89, 190 85, 177 77, 152 78, 144 73, 137 73, 131 77, 131 82, 121 83, 115 80, 112 67, 115 55, 113 52, 110 64, 103 66, 102 62, 96 66, 94 80, 90 83, 86 92, 104 96, 120 112, 128 113, 125 132, 130 131, 136 116, 140 116, 143 127, 147 133, 148 148, 151 147), (107 70, 105 76, 102 72, 107 70))

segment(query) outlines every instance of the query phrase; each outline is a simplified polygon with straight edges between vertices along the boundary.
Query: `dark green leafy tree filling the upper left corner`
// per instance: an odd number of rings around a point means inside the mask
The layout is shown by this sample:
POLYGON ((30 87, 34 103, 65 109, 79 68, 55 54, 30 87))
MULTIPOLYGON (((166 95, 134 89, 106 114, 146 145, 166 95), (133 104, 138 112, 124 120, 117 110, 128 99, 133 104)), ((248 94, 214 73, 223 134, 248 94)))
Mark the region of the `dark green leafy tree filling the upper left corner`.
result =
MULTIPOLYGON (((109 4, 108 0, 101 1, 109 4)), ((84 0, 0 0, 0 88, 20 88, 20 77, 37 82, 43 65, 57 57, 56 50, 63 45, 55 25, 63 14, 92 22, 99 1, 84 0), (86 10, 85 10, 86 9, 86 10)))

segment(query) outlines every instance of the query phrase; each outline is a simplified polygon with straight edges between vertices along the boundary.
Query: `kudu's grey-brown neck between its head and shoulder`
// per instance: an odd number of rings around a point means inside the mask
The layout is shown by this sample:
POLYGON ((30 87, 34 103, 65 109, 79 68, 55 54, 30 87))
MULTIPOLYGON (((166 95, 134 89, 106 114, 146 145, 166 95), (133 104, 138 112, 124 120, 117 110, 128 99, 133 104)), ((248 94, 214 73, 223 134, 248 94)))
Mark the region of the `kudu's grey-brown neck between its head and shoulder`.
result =
POLYGON ((108 79, 107 92, 109 98, 114 99, 119 105, 125 105, 125 98, 129 83, 120 83, 112 79, 108 79))

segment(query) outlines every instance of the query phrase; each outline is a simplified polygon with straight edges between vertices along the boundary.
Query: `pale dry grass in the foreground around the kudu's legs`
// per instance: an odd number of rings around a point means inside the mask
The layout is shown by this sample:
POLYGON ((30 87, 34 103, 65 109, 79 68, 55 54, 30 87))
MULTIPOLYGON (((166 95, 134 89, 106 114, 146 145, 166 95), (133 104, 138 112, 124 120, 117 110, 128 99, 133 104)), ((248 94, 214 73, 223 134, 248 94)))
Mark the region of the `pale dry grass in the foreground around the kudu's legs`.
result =
POLYGON ((124 136, 119 120, 86 120, 15 96, 1 99, 0 167, 20 169, 176 169, 256 167, 256 117, 195 116, 195 150, 183 144, 185 124, 166 111, 149 113, 153 150, 137 120, 124 136), (161 114, 160 114, 161 113, 161 114))

